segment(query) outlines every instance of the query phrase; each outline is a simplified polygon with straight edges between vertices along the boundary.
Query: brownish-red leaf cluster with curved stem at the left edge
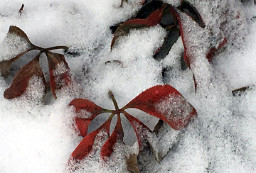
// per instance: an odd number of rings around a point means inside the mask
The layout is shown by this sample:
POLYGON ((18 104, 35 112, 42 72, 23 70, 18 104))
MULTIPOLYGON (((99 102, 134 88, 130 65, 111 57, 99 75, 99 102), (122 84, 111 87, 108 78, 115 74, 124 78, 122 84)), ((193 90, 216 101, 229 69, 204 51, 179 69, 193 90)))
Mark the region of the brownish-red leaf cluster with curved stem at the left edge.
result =
POLYGON ((11 65, 26 52, 40 50, 38 55, 36 55, 31 62, 28 62, 27 65, 18 71, 11 86, 4 91, 4 98, 13 99, 21 96, 26 91, 28 82, 35 77, 39 77, 43 81, 44 90, 46 91, 46 79, 39 63, 39 57, 43 52, 46 53, 48 60, 50 90, 52 91, 54 98, 57 99, 55 91, 72 83, 70 68, 65 61, 64 55, 50 52, 50 50, 68 49, 68 47, 55 46, 51 48, 41 48, 33 45, 26 33, 16 26, 10 26, 9 32, 2 45, 5 48, 4 51, 9 53, 6 57, 1 58, 0 62, 0 73, 3 77, 9 75, 11 65))

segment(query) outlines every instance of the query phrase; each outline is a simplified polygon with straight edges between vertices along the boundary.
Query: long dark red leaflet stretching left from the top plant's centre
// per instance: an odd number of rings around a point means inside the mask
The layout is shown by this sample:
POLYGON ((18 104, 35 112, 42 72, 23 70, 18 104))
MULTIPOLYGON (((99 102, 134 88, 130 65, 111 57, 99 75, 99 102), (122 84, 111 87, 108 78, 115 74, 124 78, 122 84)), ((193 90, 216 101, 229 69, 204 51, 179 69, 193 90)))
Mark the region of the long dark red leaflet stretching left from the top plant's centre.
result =
POLYGON ((156 26, 157 24, 159 24, 161 22, 161 18, 164 12, 164 9, 166 8, 166 4, 164 4, 161 9, 157 9, 156 11, 154 11, 153 13, 151 13, 151 15, 146 18, 146 19, 132 19, 129 20, 125 23, 122 23, 122 25, 120 25, 117 30, 114 32, 114 37, 112 39, 112 43, 111 43, 111 49, 115 43, 115 41, 117 40, 117 38, 119 38, 122 35, 127 35, 129 33, 130 29, 138 29, 138 28, 143 28, 143 27, 150 27, 150 26, 156 26))

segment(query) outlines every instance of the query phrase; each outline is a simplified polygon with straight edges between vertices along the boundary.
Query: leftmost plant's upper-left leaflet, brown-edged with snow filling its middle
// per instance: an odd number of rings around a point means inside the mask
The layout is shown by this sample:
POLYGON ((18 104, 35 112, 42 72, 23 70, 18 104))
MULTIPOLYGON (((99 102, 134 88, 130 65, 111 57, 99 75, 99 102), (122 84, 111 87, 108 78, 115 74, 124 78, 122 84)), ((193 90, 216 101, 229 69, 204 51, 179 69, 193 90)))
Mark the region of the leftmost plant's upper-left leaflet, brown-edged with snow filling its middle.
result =
POLYGON ((16 26, 10 26, 9 32, 1 43, 0 49, 0 73, 1 76, 7 77, 10 73, 12 63, 18 60, 30 50, 38 49, 33 45, 26 33, 16 26))

